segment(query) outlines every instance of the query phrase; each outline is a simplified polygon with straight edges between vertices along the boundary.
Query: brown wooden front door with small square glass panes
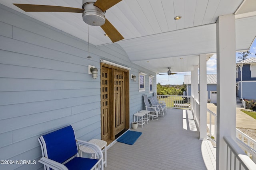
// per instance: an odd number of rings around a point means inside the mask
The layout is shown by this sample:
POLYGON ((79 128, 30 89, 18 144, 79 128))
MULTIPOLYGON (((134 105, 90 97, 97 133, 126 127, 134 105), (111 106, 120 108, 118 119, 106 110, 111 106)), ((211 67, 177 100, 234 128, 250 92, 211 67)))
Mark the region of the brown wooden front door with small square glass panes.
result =
POLYGON ((129 128, 129 71, 101 64, 101 136, 110 143, 129 128), (127 96, 127 97, 126 97, 127 96))

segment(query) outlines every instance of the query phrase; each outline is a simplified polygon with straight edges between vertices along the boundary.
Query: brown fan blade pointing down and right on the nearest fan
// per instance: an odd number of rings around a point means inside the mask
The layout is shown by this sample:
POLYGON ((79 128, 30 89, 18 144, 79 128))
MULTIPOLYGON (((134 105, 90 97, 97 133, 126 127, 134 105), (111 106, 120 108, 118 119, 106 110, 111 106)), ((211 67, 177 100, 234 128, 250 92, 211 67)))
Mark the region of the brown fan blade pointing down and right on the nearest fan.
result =
POLYGON ((100 27, 108 35, 108 37, 111 39, 113 43, 121 39, 124 39, 124 37, 117 31, 117 29, 107 19, 105 23, 100 27))

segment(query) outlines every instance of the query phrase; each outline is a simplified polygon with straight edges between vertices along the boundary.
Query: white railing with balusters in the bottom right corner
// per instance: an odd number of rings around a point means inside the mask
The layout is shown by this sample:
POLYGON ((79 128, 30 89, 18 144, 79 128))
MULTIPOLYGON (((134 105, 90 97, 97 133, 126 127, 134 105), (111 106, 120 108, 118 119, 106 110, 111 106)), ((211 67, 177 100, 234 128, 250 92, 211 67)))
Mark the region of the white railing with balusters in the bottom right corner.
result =
POLYGON ((231 137, 225 136, 224 141, 227 144, 227 170, 256 170, 256 164, 231 137))

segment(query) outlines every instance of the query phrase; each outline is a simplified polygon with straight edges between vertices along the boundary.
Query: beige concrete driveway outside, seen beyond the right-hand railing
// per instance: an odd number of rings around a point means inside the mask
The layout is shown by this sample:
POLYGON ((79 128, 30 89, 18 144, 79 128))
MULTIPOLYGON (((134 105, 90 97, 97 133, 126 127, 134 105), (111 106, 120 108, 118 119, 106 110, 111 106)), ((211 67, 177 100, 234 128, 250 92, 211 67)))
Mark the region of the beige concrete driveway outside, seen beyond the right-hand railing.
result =
MULTIPOLYGON (((212 103, 207 104, 207 109, 213 113, 217 113, 217 106, 212 103)), ((256 119, 242 112, 241 109, 243 108, 236 107, 236 127, 256 129, 256 119)), ((208 118, 207 123, 209 124, 209 122, 210 120, 208 118)), ((214 120, 212 120, 212 123, 214 123, 214 120)))

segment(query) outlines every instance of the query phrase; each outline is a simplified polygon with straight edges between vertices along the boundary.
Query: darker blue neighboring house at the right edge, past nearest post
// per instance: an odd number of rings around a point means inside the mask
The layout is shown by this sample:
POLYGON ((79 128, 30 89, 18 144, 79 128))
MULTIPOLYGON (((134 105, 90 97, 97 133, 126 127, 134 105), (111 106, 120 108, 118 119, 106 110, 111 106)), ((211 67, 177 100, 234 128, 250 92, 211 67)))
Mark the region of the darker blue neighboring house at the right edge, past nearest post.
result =
POLYGON ((236 63, 236 96, 256 100, 256 57, 236 63))

